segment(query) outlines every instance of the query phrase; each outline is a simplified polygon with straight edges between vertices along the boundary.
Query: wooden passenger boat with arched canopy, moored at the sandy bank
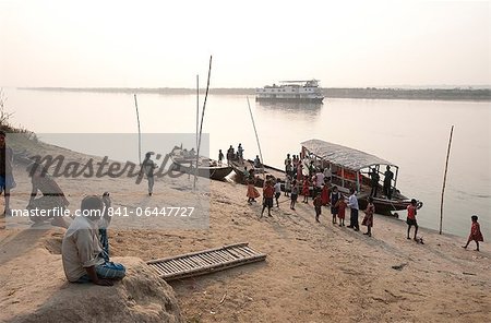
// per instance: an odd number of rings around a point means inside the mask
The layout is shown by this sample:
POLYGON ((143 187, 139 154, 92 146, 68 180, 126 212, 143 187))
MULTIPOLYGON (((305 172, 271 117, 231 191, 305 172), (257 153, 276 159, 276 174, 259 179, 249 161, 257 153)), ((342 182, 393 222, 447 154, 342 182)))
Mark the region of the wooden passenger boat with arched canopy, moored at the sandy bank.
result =
MULTIPOLYGON (((307 160, 313 160, 314 166, 318 168, 330 167, 332 172, 331 186, 337 186, 339 191, 346 196, 351 188, 358 192, 360 210, 367 207, 368 198, 372 190, 371 179, 369 178, 370 172, 375 171, 381 179, 384 179, 383 171, 386 169, 386 166, 395 169, 390 188, 392 196, 383 195, 383 187, 380 184, 381 181, 379 181, 378 196, 373 198, 375 212, 392 215, 392 212, 406 210, 410 204, 411 199, 406 198, 396 189, 398 166, 393 163, 364 152, 316 139, 302 142, 301 145, 302 154, 307 157, 307 160)), ((422 202, 418 201, 418 207, 421 206, 422 202)))

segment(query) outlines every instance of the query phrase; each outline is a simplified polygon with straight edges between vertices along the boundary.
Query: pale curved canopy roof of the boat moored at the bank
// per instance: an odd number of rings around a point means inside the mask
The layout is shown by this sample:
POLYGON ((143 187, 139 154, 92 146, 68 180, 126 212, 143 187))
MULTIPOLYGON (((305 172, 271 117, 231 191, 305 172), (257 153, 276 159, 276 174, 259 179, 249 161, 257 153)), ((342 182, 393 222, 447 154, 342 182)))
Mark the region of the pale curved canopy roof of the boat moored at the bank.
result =
POLYGON ((342 145, 328 143, 322 140, 312 139, 301 143, 309 153, 319 158, 325 159, 332 164, 343 166, 344 168, 358 171, 360 169, 374 165, 396 165, 388 160, 367 154, 361 151, 348 148, 342 145))

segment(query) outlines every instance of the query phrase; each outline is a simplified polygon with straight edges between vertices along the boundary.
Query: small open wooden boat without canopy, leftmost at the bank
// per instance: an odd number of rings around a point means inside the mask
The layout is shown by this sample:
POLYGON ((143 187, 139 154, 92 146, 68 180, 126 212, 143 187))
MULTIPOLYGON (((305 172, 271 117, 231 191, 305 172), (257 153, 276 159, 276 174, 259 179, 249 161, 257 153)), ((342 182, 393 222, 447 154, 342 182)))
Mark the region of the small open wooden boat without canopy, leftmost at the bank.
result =
MULTIPOLYGON (((181 147, 176 146, 169 154, 172 160, 172 169, 184 174, 194 175, 196 170, 196 156, 192 156, 181 147)), ((218 162, 208 157, 200 156, 197 165, 197 176, 211 178, 214 180, 224 180, 232 171, 227 165, 218 165, 218 162)))

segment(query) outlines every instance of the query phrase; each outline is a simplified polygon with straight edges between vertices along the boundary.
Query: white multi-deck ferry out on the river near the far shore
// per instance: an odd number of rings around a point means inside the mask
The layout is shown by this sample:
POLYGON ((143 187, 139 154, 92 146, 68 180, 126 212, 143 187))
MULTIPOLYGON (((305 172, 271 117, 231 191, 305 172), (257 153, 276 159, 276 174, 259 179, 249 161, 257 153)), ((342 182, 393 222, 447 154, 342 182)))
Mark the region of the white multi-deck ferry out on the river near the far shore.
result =
POLYGON ((324 95, 318 80, 280 81, 255 89, 255 100, 322 103, 324 95))

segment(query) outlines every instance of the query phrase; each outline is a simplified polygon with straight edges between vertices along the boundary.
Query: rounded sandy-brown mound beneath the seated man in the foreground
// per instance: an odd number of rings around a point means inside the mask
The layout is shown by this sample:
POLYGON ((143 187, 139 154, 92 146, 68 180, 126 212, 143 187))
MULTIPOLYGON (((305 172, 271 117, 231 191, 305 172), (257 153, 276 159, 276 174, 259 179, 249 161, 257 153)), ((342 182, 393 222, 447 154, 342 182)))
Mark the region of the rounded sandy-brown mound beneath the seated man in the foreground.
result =
POLYGON ((115 258, 127 277, 115 286, 64 284, 13 322, 183 322, 173 289, 139 258, 115 258))

